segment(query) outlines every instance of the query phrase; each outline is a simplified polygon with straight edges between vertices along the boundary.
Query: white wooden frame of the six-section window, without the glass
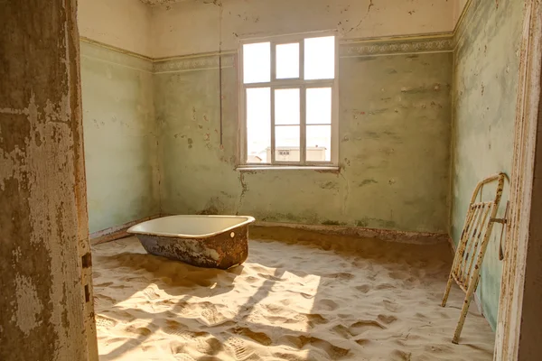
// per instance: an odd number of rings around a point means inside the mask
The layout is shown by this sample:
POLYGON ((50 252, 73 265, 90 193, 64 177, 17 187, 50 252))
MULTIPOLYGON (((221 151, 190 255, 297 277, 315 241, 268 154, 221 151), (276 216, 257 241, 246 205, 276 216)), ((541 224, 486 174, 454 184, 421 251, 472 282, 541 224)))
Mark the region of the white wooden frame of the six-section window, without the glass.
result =
POLYGON ((250 38, 239 40, 238 51, 238 83, 239 83, 239 168, 266 168, 266 167, 334 167, 339 164, 339 37, 336 31, 305 32, 281 36, 269 36, 262 38, 250 38), (304 80, 304 39, 319 38, 325 36, 335 37, 335 73, 333 79, 304 80), (243 45, 270 42, 271 43, 271 77, 269 82, 245 84, 243 80, 243 45), (276 45, 299 43, 299 78, 276 79, 276 45), (271 90, 271 160, 266 163, 248 162, 247 143, 247 103, 246 94, 248 88, 270 88, 271 90), (275 142, 275 89, 299 88, 300 89, 300 160, 299 162, 276 161, 275 142), (332 88, 332 139, 331 161, 307 162, 306 161, 306 109, 305 94, 307 88, 332 88))

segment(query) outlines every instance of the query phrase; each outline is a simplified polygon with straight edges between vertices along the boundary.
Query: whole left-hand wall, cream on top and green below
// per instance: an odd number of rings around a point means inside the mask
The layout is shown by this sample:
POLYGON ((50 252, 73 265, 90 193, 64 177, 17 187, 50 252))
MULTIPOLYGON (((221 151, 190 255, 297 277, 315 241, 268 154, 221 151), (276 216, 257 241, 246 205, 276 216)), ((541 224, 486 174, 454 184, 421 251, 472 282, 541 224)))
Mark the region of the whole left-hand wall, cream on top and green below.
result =
POLYGON ((89 231, 160 212, 150 55, 151 8, 139 0, 80 0, 81 87, 89 231), (109 49, 108 46, 120 48, 109 49))

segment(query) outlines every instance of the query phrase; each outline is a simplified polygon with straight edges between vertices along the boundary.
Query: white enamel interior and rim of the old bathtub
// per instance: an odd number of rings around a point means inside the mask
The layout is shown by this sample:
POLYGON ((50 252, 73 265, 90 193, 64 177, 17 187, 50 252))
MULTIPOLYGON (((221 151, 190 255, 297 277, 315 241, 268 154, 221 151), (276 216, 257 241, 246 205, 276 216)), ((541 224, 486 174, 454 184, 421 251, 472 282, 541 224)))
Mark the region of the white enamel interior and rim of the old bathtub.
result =
POLYGON ((214 236, 254 221, 245 216, 170 216, 149 220, 128 229, 128 233, 156 236, 214 236))

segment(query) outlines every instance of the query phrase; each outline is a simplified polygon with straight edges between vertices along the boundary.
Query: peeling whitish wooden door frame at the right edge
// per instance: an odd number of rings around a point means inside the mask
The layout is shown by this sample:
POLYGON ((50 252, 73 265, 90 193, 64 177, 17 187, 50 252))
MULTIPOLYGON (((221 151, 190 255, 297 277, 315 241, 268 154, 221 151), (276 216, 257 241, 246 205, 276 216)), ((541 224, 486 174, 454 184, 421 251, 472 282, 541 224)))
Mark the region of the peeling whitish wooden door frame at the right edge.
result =
POLYGON ((511 213, 494 360, 527 360, 529 355, 536 355, 533 352, 542 352, 539 339, 536 341, 540 335, 539 325, 535 325, 540 311, 526 307, 528 300, 542 294, 542 284, 528 277, 530 273, 542 272, 542 225, 539 222, 542 178, 537 178, 542 175, 542 124, 538 125, 542 122, 541 69, 542 1, 525 0, 510 180, 511 213))

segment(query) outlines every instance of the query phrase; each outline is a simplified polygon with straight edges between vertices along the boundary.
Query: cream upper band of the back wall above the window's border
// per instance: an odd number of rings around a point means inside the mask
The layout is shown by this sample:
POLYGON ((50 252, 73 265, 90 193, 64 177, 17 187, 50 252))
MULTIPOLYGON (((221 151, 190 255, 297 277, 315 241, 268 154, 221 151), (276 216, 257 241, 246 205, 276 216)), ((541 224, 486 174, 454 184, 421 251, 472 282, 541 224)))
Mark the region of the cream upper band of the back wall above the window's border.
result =
POLYGON ((153 56, 219 46, 236 50, 240 38, 332 29, 343 40, 452 32, 453 7, 444 0, 194 0, 154 6, 153 56))

